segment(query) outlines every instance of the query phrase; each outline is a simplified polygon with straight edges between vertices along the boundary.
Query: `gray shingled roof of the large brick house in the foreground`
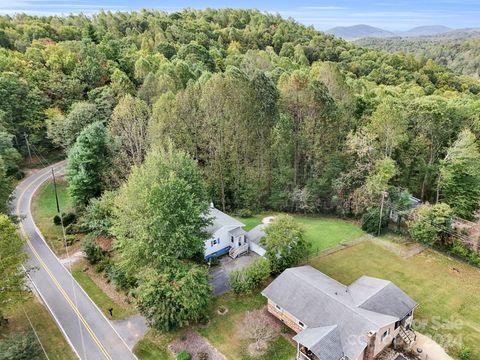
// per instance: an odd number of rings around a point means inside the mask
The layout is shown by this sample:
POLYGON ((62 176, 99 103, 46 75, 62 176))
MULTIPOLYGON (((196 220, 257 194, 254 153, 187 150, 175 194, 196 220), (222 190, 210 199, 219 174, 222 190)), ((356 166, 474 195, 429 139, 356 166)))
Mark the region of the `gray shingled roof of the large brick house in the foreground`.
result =
MULTIPOLYGON (((370 307, 358 306, 359 299, 370 299, 377 294, 375 292, 371 292, 370 295, 356 293, 361 290, 359 287, 347 287, 311 266, 301 266, 285 270, 262 294, 307 326, 307 329, 300 334, 309 329, 335 326, 338 337, 333 334, 326 339, 321 337, 318 339, 319 344, 323 344, 321 341, 329 344, 336 339, 335 346, 341 346, 346 356, 356 359, 366 347, 365 337, 369 331, 377 331, 385 325, 400 320, 400 317, 388 312, 378 312, 371 310, 370 307)), ((392 291, 390 295, 408 298, 400 289, 392 291)), ((363 303, 365 300, 362 301, 363 303)), ((381 305, 380 302, 376 304, 381 305)), ((413 300, 411 304, 413 309, 416 304, 413 300)), ((313 334, 310 333, 309 336, 313 334)), ((322 352, 321 355, 315 352, 317 347, 309 349, 321 359, 337 360, 340 357, 337 357, 338 351, 335 346, 323 344, 322 350, 318 350, 322 352), (329 352, 324 353, 325 351, 329 352)))

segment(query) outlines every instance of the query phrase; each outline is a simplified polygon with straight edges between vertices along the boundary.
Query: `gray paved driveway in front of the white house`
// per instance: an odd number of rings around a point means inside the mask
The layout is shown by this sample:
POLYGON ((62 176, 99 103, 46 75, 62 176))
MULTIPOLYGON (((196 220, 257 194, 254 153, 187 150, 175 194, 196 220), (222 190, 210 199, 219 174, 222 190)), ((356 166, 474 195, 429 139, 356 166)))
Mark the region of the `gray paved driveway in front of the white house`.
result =
POLYGON ((224 256, 220 259, 220 264, 210 269, 210 284, 213 287, 213 295, 219 296, 230 291, 230 282, 228 275, 233 270, 243 269, 250 265, 253 260, 259 256, 253 252, 242 255, 236 259, 224 256))

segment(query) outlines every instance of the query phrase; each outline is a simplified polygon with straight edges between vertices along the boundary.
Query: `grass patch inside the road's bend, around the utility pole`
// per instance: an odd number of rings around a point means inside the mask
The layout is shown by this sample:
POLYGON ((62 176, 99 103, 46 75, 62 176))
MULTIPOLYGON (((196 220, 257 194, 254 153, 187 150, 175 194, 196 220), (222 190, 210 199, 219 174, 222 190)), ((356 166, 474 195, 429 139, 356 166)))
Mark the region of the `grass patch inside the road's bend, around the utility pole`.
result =
MULTIPOLYGON (((62 178, 57 179, 57 193, 61 212, 72 211, 73 204, 67 191, 67 183, 62 178)), ((57 215, 57 204, 52 181, 43 184, 33 196, 32 215, 51 249, 57 255, 64 254, 62 227, 53 223, 53 217, 57 215)))

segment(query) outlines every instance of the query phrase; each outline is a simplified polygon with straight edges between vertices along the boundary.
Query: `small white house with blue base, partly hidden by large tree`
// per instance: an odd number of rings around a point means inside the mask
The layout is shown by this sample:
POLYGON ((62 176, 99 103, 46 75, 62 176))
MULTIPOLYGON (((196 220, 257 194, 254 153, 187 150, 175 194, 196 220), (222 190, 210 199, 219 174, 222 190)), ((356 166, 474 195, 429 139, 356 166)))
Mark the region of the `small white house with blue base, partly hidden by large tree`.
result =
POLYGON ((212 223, 206 228, 206 231, 211 234, 211 237, 205 241, 206 261, 224 254, 236 258, 249 250, 260 256, 265 254, 265 250, 258 244, 264 235, 265 225, 261 224, 247 233, 243 230, 245 224, 216 209, 213 204, 210 206, 208 217, 212 219, 212 223))

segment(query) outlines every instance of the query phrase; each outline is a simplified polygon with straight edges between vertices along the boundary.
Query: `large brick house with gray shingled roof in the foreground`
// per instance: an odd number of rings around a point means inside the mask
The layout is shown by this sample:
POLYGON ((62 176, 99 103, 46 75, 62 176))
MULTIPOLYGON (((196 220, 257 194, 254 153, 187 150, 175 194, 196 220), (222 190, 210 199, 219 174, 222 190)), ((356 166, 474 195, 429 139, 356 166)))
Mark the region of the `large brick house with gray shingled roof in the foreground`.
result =
POLYGON ((285 270, 262 295, 297 335, 298 360, 371 360, 397 336, 410 343, 416 302, 392 282, 362 276, 345 286, 311 266, 285 270))

